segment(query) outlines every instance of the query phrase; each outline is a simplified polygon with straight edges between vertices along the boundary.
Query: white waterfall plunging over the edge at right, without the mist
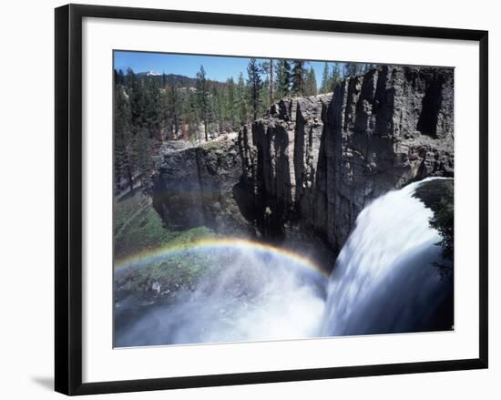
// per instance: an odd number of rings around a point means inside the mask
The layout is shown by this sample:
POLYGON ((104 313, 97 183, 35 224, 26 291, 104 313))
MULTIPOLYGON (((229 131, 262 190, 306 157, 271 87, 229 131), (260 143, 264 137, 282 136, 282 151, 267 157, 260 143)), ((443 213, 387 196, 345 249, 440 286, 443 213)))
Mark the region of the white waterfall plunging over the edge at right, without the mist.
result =
POLYGON ((429 224, 432 210, 414 197, 431 180, 391 191, 360 213, 329 279, 322 336, 452 328, 452 280, 434 266, 440 236, 429 224))

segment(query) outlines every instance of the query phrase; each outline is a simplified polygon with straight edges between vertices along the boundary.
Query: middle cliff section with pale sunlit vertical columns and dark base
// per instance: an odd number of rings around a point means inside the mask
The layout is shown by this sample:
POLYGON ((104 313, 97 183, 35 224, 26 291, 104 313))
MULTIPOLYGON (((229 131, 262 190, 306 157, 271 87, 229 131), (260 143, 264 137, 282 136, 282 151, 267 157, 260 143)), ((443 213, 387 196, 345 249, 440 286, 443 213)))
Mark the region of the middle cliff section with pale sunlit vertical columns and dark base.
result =
POLYGON ((322 231, 325 209, 324 113, 332 96, 281 100, 269 115, 252 124, 257 148, 256 192, 267 212, 259 221, 274 236, 322 231), (308 221, 307 221, 308 220, 308 221))

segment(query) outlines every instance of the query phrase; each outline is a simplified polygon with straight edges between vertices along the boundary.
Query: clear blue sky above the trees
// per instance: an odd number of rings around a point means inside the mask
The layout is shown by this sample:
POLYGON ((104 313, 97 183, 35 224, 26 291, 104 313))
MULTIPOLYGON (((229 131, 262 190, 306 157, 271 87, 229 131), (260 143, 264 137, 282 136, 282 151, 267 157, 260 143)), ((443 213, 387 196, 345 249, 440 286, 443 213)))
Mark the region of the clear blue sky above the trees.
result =
MULTIPOLYGON (((179 74, 186 77, 195 77, 203 65, 207 77, 213 80, 225 81, 229 77, 238 79, 240 72, 247 77, 249 58, 233 56, 191 56, 165 53, 143 53, 130 51, 115 51, 115 69, 127 71, 128 67, 134 72, 155 71, 166 74, 179 74)), ((307 67, 313 67, 317 84, 322 81, 323 61, 311 61, 307 67)))

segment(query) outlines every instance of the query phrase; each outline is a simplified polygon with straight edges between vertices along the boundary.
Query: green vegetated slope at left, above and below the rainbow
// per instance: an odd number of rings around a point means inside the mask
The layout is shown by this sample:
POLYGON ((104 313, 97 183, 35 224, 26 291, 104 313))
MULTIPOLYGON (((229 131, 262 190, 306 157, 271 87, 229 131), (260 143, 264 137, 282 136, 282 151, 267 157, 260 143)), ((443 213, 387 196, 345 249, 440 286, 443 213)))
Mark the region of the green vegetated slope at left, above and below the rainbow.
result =
POLYGON ((114 214, 116 264, 160 248, 186 249, 116 275, 118 299, 128 294, 137 295, 138 300, 150 300, 158 295, 169 298, 181 290, 193 289, 202 274, 220 265, 215 258, 217 254, 190 250, 191 243, 215 236, 213 231, 206 227, 169 231, 141 190, 118 197, 114 214))

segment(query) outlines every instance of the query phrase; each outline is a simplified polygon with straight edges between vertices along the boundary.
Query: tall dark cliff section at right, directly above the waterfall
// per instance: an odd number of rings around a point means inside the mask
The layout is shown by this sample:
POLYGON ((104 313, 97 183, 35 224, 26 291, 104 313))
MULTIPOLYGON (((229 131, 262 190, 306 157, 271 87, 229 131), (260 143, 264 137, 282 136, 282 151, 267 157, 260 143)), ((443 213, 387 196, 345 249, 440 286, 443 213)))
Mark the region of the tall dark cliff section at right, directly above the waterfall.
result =
POLYGON ((326 111, 327 227, 340 248, 368 201, 454 175, 454 71, 383 67, 335 88, 326 111))

